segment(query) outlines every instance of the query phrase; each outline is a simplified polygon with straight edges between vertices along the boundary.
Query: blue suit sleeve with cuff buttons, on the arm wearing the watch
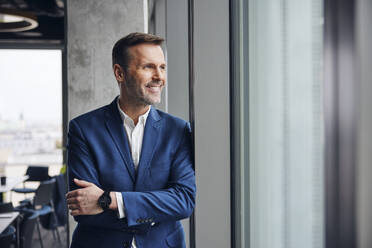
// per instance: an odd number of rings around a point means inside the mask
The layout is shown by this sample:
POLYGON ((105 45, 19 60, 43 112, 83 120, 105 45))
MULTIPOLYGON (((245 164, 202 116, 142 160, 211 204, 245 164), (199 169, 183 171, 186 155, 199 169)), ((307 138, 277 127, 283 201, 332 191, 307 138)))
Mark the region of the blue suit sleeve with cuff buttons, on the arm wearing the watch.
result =
POLYGON ((195 172, 191 130, 187 123, 172 161, 168 187, 147 192, 122 192, 128 226, 175 221, 191 215, 195 205, 195 172))

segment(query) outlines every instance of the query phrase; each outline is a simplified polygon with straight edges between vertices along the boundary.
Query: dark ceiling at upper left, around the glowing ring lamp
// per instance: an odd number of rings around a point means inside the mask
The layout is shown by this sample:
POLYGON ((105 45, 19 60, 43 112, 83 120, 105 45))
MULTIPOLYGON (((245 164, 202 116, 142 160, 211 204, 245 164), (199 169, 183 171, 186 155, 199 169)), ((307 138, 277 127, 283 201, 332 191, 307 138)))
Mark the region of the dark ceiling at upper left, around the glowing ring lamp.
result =
POLYGON ((0 13, 16 11, 36 16, 35 29, 0 32, 0 44, 63 44, 65 0, 0 0, 0 13))

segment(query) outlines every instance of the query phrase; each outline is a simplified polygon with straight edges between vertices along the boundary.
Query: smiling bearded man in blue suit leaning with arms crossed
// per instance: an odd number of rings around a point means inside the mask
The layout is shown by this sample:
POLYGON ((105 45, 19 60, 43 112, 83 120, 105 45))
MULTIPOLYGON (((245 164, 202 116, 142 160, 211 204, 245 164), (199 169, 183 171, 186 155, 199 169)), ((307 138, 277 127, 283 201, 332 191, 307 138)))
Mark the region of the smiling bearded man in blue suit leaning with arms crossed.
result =
POLYGON ((190 126, 151 105, 166 83, 163 39, 132 33, 112 52, 120 95, 69 124, 71 247, 185 247, 195 204, 190 126))

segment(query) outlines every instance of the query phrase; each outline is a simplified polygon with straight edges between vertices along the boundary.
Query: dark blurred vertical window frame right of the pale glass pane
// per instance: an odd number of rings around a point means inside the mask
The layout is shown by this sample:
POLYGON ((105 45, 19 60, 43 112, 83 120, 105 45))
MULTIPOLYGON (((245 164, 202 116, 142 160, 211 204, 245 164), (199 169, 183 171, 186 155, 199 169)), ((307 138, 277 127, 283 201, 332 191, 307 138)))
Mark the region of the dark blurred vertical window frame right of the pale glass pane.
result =
POLYGON ((326 248, 356 247, 356 1, 325 0, 326 248))

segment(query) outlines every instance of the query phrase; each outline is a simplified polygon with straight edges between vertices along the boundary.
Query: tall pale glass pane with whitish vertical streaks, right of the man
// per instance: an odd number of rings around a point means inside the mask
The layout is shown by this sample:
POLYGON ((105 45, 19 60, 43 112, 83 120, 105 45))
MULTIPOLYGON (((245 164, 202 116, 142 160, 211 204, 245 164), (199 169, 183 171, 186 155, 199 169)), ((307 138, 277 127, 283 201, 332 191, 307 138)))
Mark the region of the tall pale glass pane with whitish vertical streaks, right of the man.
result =
POLYGON ((237 247, 323 247, 322 6, 240 2, 237 247))

